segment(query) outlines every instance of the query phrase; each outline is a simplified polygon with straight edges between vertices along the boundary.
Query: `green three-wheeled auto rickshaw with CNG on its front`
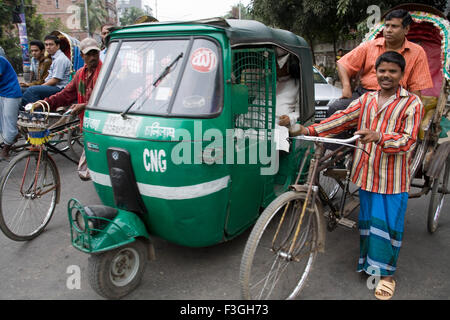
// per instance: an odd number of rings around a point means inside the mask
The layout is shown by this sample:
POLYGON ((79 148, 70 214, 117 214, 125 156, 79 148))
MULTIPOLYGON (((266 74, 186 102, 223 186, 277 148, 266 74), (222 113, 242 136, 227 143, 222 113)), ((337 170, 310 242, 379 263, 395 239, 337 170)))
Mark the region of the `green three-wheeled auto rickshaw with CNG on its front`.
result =
POLYGON ((189 247, 228 241, 294 183, 310 156, 308 143, 289 152, 271 143, 277 49, 289 53, 299 84, 299 121, 312 124, 311 51, 291 32, 217 18, 110 34, 83 120, 102 205, 68 203, 72 244, 90 254, 97 293, 136 288, 152 237, 189 247))

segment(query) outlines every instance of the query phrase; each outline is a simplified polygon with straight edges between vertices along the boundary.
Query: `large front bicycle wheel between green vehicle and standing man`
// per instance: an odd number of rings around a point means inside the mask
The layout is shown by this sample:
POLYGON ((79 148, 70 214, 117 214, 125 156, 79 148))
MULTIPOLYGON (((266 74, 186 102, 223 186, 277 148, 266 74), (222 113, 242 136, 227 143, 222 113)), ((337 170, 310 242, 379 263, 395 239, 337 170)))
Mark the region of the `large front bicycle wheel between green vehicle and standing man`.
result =
POLYGON ((292 245, 305 197, 304 193, 283 193, 256 222, 240 267, 244 299, 293 299, 305 285, 316 257, 318 237, 316 212, 306 210, 292 245))

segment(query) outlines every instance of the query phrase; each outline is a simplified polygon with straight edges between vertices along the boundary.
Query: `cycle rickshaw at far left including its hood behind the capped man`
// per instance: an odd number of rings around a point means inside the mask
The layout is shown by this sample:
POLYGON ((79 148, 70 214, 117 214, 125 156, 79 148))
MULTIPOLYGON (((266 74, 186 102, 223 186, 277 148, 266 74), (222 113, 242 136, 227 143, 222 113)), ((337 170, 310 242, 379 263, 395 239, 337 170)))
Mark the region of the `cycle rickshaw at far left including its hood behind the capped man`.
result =
MULTIPOLYGON (((84 65, 79 41, 58 30, 51 34, 60 39, 75 74, 84 65)), ((82 137, 78 117, 51 112, 48 104, 20 111, 17 125, 20 136, 0 177, 0 230, 12 240, 28 241, 44 231, 59 202, 61 181, 50 153, 78 164, 82 137)))

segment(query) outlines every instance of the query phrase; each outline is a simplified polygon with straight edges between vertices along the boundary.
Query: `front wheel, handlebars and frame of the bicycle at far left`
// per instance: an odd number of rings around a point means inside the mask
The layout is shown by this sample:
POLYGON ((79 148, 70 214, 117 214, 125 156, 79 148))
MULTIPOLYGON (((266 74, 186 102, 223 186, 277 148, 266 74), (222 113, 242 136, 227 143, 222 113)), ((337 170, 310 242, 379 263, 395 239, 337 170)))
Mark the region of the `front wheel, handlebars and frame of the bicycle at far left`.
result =
MULTIPOLYGON (((47 129, 48 111, 39 113, 32 110, 28 118, 24 117, 25 113, 18 125, 27 131, 28 142, 16 146, 24 151, 11 159, 0 179, 0 229, 15 241, 32 240, 40 235, 59 202, 60 176, 50 152, 78 163, 58 149, 52 137, 79 127, 79 120, 47 129), (42 117, 44 121, 41 121, 42 117)), ((71 140, 68 141, 70 144, 71 140)))

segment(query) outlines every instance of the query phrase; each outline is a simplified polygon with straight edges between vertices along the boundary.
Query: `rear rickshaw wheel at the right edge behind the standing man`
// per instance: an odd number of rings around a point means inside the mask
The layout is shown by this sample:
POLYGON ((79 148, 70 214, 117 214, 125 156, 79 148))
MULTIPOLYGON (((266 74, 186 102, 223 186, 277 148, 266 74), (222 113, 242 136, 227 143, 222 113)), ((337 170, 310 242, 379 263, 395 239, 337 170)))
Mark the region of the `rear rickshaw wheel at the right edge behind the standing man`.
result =
POLYGON ((449 174, 450 164, 447 159, 444 169, 441 170, 439 177, 434 179, 432 183, 430 205, 428 206, 427 228, 429 233, 435 232, 438 227, 439 214, 444 205, 445 191, 449 188, 449 174))

